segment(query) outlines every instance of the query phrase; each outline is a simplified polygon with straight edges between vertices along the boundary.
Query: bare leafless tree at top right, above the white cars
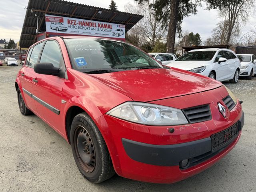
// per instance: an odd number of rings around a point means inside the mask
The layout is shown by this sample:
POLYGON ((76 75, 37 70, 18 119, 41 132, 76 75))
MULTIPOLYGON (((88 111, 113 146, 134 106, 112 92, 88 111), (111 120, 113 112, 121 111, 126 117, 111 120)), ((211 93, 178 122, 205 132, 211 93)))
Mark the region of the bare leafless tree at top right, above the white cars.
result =
POLYGON ((230 43, 234 31, 240 29, 248 21, 250 14, 254 13, 254 2, 255 0, 231 0, 220 9, 219 16, 225 18, 225 24, 222 26, 226 27, 227 31, 224 44, 230 43))

